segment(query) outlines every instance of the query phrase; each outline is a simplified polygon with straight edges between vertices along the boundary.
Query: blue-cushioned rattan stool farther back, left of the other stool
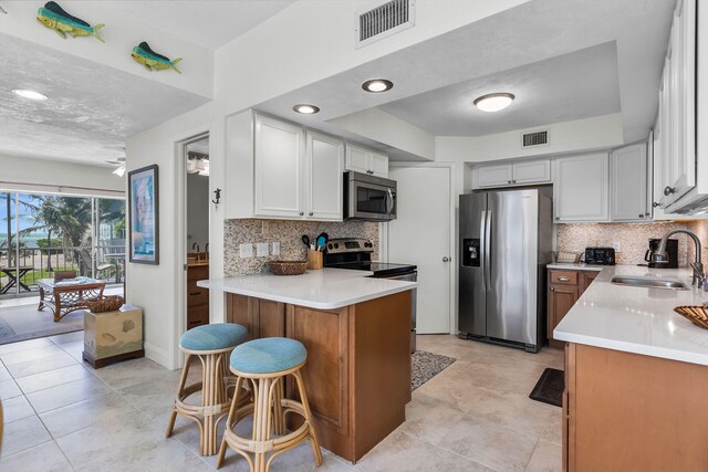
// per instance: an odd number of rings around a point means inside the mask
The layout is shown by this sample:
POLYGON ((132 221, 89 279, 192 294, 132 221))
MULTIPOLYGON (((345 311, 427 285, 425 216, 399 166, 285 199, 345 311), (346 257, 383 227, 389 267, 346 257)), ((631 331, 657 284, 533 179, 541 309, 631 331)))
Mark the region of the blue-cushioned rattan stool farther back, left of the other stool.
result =
MULTIPOLYGON (((177 397, 171 409, 166 436, 169 438, 175 428, 177 415, 189 418, 199 424, 201 455, 217 452, 217 424, 228 411, 230 400, 227 395, 227 366, 229 354, 248 337, 247 329, 235 323, 215 323, 197 326, 186 332, 179 339, 179 348, 185 353, 177 397), (201 361, 201 381, 185 386, 189 374, 191 356, 201 361), (201 391, 201 405, 190 405, 186 400, 201 391)), ((236 392, 240 390, 236 389, 236 392)), ((239 397, 239 395, 233 395, 239 397)))

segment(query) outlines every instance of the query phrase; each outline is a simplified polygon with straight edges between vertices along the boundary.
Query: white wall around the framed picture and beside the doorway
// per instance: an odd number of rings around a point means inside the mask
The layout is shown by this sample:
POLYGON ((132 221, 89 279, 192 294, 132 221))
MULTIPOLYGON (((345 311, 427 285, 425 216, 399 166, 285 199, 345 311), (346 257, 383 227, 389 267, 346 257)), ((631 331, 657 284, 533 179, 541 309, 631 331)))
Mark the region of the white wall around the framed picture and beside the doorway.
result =
MULTIPOLYGON (((185 300, 176 290, 185 284, 186 244, 180 230, 186 209, 178 196, 187 179, 177 149, 179 141, 209 130, 211 111, 211 104, 204 105, 126 141, 128 170, 159 166, 159 265, 127 263, 126 301, 143 308, 146 356, 169 369, 180 365, 178 344, 186 325, 185 300)), ((214 243, 211 248, 218 261, 222 248, 214 243)))

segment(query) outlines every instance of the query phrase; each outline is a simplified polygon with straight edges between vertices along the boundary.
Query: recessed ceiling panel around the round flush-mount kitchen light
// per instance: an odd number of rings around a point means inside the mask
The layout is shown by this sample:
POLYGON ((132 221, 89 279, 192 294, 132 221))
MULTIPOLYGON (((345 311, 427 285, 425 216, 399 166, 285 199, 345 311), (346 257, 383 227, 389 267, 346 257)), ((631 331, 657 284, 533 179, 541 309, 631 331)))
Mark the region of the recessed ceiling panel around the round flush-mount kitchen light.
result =
POLYGON ((620 112, 614 42, 414 95, 381 106, 436 136, 485 136, 620 112), (472 101, 493 92, 516 99, 498 113, 472 101))

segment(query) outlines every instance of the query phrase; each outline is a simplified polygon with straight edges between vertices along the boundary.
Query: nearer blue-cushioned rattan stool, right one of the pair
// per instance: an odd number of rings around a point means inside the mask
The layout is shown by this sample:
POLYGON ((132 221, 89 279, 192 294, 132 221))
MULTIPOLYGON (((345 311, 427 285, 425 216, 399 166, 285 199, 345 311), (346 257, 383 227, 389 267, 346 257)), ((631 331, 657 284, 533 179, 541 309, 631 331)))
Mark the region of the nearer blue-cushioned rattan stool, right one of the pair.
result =
POLYGON ((300 373, 306 360, 308 352, 302 343, 285 337, 249 340, 233 349, 231 373, 237 376, 236 389, 238 391, 243 382, 250 382, 254 402, 240 405, 242 401, 236 396, 231 401, 217 469, 221 466, 227 445, 248 460, 251 471, 266 472, 273 459, 308 439, 312 442, 316 465, 322 465, 322 452, 300 373), (300 401, 283 398, 287 376, 295 379, 300 401), (251 413, 251 438, 242 438, 235 432, 236 426, 251 413), (298 413, 304 419, 302 426, 290 433, 285 431, 288 413, 298 413))

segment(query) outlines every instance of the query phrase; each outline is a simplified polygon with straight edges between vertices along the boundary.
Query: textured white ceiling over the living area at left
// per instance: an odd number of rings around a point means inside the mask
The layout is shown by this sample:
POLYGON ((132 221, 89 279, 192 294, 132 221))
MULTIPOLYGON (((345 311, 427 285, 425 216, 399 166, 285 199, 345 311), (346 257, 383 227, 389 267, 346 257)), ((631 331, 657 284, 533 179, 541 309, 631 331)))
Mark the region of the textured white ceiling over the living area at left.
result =
POLYGON ((207 98, 0 33, 0 154, 103 164, 207 98), (44 102, 17 97, 30 88, 44 102))

